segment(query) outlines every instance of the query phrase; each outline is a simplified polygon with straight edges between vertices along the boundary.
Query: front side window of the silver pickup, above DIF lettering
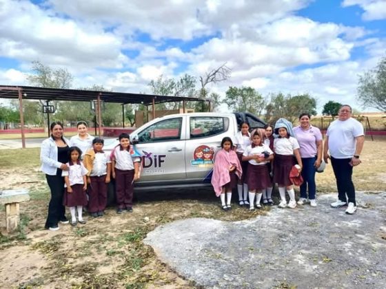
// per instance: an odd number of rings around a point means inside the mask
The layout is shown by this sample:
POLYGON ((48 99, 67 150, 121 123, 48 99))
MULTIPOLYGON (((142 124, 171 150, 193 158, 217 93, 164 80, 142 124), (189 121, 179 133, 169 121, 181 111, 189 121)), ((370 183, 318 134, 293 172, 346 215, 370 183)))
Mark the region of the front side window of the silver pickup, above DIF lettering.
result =
POLYGON ((138 140, 140 143, 179 140, 181 138, 181 125, 182 118, 161 120, 143 129, 138 135, 138 140))

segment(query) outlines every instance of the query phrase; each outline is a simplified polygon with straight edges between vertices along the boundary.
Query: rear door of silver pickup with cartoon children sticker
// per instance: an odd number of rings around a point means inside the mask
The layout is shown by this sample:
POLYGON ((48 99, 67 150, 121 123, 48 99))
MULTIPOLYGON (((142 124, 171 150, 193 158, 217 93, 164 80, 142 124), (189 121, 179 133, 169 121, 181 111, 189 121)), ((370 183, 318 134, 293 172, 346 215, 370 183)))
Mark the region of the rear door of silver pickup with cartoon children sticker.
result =
MULTIPOLYGON (((214 153, 221 149, 221 140, 230 136, 227 116, 190 116, 186 140, 187 181, 208 182, 213 168, 214 153)), ((230 136, 232 137, 232 136, 230 136)))

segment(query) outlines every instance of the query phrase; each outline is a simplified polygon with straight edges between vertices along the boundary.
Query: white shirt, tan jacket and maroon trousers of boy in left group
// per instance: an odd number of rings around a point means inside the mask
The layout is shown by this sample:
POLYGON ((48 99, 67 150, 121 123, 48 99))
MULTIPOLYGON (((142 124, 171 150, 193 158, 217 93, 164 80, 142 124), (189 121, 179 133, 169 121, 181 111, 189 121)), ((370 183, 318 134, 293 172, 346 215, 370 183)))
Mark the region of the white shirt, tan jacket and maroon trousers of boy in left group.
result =
POLYGON ((110 155, 104 151, 90 149, 85 153, 84 164, 88 169, 90 184, 88 186, 88 211, 103 212, 108 201, 108 184, 105 183, 110 155))

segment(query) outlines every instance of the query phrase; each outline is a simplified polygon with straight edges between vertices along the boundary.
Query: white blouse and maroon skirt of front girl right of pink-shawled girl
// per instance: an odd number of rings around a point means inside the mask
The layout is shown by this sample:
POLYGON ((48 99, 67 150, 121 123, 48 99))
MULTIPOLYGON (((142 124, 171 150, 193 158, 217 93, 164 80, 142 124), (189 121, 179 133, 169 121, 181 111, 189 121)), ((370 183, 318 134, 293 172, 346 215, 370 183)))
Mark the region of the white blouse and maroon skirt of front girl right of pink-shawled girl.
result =
MULTIPOLYGON (((251 144, 245 149, 243 156, 262 155, 264 151, 267 151, 270 155, 273 154, 273 151, 266 144, 261 146, 251 144)), ((260 191, 272 186, 267 163, 270 163, 270 161, 256 162, 253 159, 248 161, 246 182, 250 191, 260 191)))

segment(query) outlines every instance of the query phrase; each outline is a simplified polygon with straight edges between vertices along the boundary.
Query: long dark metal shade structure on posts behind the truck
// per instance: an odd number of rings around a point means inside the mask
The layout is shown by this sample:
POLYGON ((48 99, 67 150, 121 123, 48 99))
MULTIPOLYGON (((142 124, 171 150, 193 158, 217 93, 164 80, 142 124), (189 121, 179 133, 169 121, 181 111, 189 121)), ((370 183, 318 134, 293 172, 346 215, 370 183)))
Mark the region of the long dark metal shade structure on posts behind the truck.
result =
POLYGON ((19 112, 21 124, 22 147, 26 147, 24 138, 23 99, 30 100, 71 100, 71 101, 96 101, 96 114, 98 116, 99 136, 101 136, 101 101, 105 103, 142 104, 152 105, 153 117, 157 103, 182 102, 185 111, 186 101, 207 101, 201 98, 183 96, 156 96, 152 94, 132 94, 126 92, 100 92, 83 89, 60 89, 31 86, 0 85, 0 98, 19 98, 19 112))

